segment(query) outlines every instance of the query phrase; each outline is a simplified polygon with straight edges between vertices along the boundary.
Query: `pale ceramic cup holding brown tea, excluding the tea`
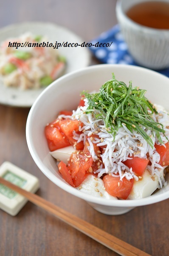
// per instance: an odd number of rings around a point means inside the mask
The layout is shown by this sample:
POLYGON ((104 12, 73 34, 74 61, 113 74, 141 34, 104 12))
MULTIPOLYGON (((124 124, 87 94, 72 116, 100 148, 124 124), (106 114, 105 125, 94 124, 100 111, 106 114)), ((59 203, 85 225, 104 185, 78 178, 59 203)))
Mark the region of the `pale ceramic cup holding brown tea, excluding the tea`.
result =
MULTIPOLYGON (((127 17, 134 5, 159 0, 118 0, 116 16, 128 50, 138 64, 154 70, 169 67, 169 29, 152 29, 141 26, 127 17)), ((169 0, 163 0, 169 3, 169 0)))

